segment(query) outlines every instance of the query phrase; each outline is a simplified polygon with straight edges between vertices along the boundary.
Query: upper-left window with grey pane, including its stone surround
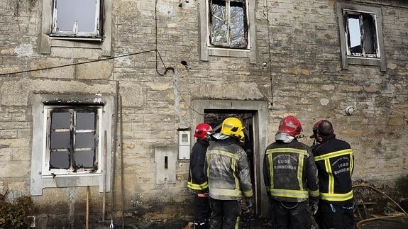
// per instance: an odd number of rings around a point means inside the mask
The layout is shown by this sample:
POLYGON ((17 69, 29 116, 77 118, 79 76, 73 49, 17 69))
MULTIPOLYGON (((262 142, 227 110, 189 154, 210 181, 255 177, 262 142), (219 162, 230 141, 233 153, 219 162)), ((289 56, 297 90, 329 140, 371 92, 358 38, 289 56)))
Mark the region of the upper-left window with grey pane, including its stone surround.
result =
POLYGON ((51 48, 84 48, 111 55, 113 0, 41 0, 40 52, 51 48))

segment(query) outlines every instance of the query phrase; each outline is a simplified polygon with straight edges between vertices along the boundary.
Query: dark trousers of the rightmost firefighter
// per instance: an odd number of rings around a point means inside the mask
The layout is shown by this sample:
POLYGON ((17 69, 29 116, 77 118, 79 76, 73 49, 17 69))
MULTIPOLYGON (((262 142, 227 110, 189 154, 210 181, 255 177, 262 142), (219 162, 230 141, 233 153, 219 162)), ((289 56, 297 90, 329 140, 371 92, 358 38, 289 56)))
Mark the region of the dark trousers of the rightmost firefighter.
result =
POLYGON ((354 228, 353 203, 336 205, 319 201, 319 208, 314 216, 319 229, 352 229, 354 228))

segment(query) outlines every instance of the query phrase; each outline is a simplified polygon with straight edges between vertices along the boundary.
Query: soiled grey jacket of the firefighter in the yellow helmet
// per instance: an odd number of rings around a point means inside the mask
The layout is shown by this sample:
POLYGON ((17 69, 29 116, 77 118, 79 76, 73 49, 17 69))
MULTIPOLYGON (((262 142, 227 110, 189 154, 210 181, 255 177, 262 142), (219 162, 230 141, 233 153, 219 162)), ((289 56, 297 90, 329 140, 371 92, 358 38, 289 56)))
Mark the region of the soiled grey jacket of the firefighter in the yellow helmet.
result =
POLYGON ((238 200, 253 196, 246 152, 236 138, 211 142, 204 168, 212 199, 238 200))

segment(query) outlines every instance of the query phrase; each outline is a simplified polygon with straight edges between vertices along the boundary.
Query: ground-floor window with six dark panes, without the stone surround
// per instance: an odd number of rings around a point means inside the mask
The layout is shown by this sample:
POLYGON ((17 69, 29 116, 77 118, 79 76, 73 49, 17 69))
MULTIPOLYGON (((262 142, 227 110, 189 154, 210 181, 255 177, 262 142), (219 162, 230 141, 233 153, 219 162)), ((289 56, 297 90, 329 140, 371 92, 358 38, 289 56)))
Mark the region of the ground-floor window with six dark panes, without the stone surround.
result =
POLYGON ((47 107, 47 167, 53 172, 98 169, 99 108, 47 107))

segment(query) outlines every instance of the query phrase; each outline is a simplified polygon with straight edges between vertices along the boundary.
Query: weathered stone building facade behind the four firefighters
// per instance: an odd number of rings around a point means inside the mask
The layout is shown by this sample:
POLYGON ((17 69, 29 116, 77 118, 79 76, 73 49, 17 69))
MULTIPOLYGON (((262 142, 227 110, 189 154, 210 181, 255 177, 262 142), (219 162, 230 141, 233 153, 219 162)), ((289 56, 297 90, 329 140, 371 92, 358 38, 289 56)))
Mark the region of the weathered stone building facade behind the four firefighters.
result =
POLYGON ((332 121, 355 181, 407 176, 407 1, 92 0, 75 23, 67 2, 0 2, 0 193, 38 219, 72 222, 87 186, 97 217, 191 215, 192 130, 228 114, 250 130, 258 214, 289 114, 307 136, 332 121))

